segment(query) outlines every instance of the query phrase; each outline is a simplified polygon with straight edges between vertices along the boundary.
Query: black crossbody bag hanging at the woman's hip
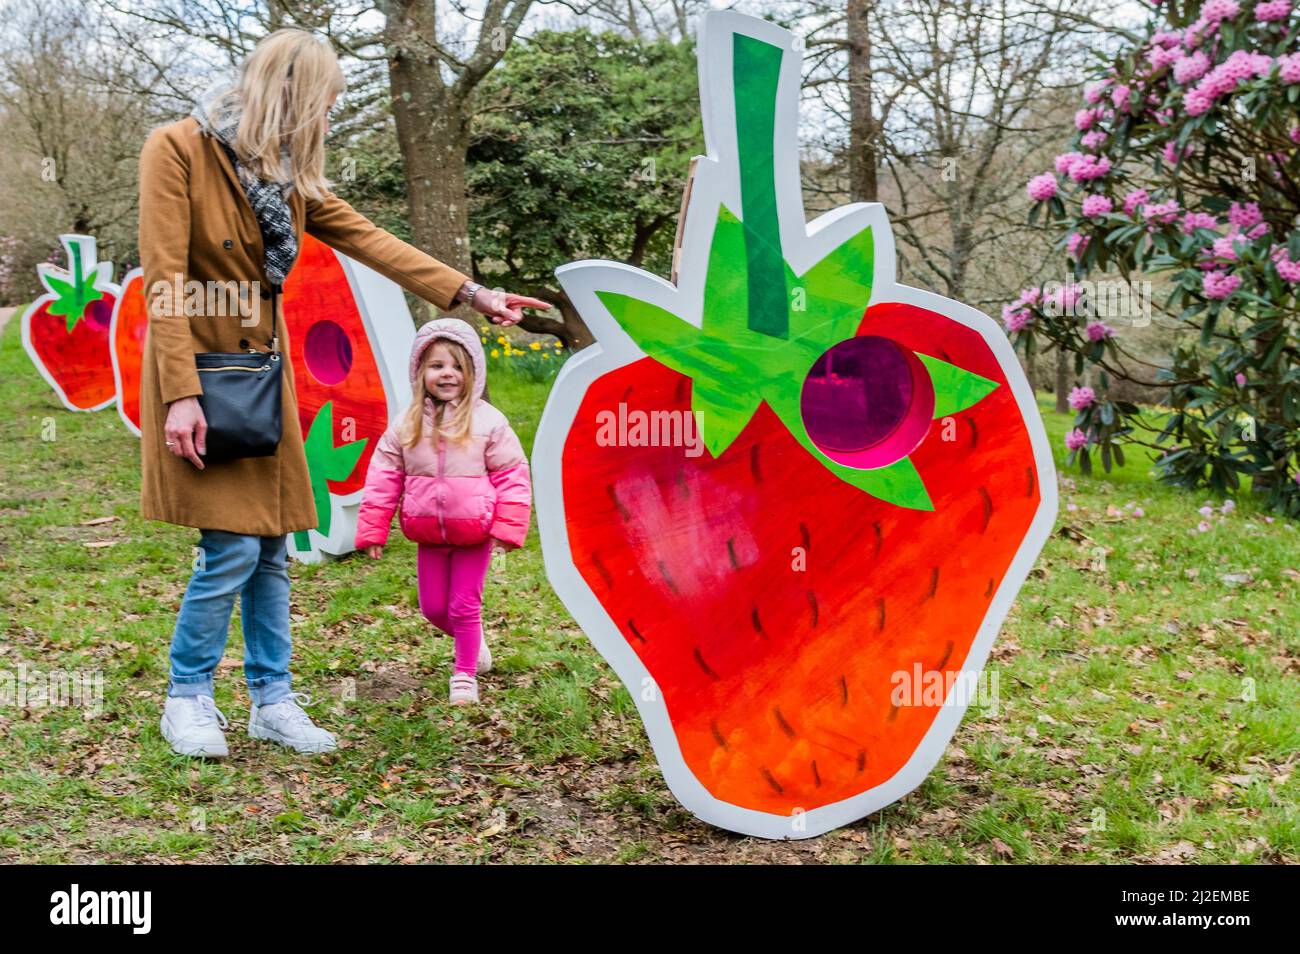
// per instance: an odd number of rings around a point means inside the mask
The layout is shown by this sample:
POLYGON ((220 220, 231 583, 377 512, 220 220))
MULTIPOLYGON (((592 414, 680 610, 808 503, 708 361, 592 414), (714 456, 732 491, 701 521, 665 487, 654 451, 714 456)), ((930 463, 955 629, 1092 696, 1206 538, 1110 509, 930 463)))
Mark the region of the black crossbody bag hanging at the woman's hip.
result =
POLYGON ((208 421, 205 463, 269 458, 283 433, 281 391, 283 356, 276 334, 276 299, 270 286, 270 351, 205 351, 194 356, 203 394, 199 406, 208 421))

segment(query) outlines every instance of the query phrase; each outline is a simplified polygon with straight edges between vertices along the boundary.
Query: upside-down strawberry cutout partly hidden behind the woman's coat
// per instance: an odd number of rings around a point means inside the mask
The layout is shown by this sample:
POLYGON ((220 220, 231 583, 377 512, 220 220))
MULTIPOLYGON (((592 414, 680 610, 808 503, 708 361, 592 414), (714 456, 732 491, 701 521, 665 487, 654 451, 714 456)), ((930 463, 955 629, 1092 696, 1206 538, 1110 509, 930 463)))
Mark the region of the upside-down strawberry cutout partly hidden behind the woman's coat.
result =
POLYGON ((354 548, 370 455, 411 400, 415 326, 396 283, 307 233, 283 308, 318 521, 290 537, 290 552, 316 561, 354 548))

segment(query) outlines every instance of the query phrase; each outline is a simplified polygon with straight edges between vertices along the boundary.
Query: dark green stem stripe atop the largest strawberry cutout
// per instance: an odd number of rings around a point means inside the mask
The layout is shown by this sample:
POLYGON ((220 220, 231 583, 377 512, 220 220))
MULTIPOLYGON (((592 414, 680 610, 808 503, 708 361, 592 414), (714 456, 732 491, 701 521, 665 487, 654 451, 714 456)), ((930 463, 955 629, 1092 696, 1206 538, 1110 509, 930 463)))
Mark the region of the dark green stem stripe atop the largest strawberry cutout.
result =
POLYGON ((776 86, 784 51, 753 36, 732 38, 736 152, 751 331, 785 338, 789 309, 776 214, 776 86))

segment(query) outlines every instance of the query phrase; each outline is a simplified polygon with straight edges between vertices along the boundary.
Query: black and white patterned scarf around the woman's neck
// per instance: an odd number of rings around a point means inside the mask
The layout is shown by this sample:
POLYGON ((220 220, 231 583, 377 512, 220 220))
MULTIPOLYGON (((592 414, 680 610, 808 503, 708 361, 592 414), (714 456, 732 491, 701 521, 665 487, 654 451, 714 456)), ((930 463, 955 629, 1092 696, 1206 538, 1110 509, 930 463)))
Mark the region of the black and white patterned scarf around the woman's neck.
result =
MULTIPOLYGON (((240 113, 242 104, 238 90, 229 81, 224 81, 208 90, 194 107, 191 116, 199 121, 204 133, 221 144, 226 156, 230 157, 235 174, 243 185, 244 195, 248 196, 248 204, 252 205, 254 214, 257 216, 266 277, 273 285, 283 285, 289 269, 294 266, 294 259, 298 257, 298 238, 294 235, 294 220, 287 201, 292 182, 289 179, 260 179, 239 161, 234 151, 234 142, 239 131, 240 113)), ((282 148, 280 155, 287 169, 289 149, 282 148)))

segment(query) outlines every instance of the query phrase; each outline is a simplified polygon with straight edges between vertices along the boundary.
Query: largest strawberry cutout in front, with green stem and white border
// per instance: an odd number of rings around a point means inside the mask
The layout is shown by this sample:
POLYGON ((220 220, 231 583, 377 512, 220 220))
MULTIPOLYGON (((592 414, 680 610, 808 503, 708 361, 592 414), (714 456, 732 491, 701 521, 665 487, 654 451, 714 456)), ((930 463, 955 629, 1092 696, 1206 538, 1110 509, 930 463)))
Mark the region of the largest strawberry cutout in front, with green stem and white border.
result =
POLYGON ((880 205, 805 222, 798 60, 772 23, 705 16, 681 274, 558 270, 598 343, 533 459, 547 574, 670 788, 766 837, 924 779, 1056 515, 997 325, 896 283, 880 205), (922 675, 945 690, 900 695, 922 675))

